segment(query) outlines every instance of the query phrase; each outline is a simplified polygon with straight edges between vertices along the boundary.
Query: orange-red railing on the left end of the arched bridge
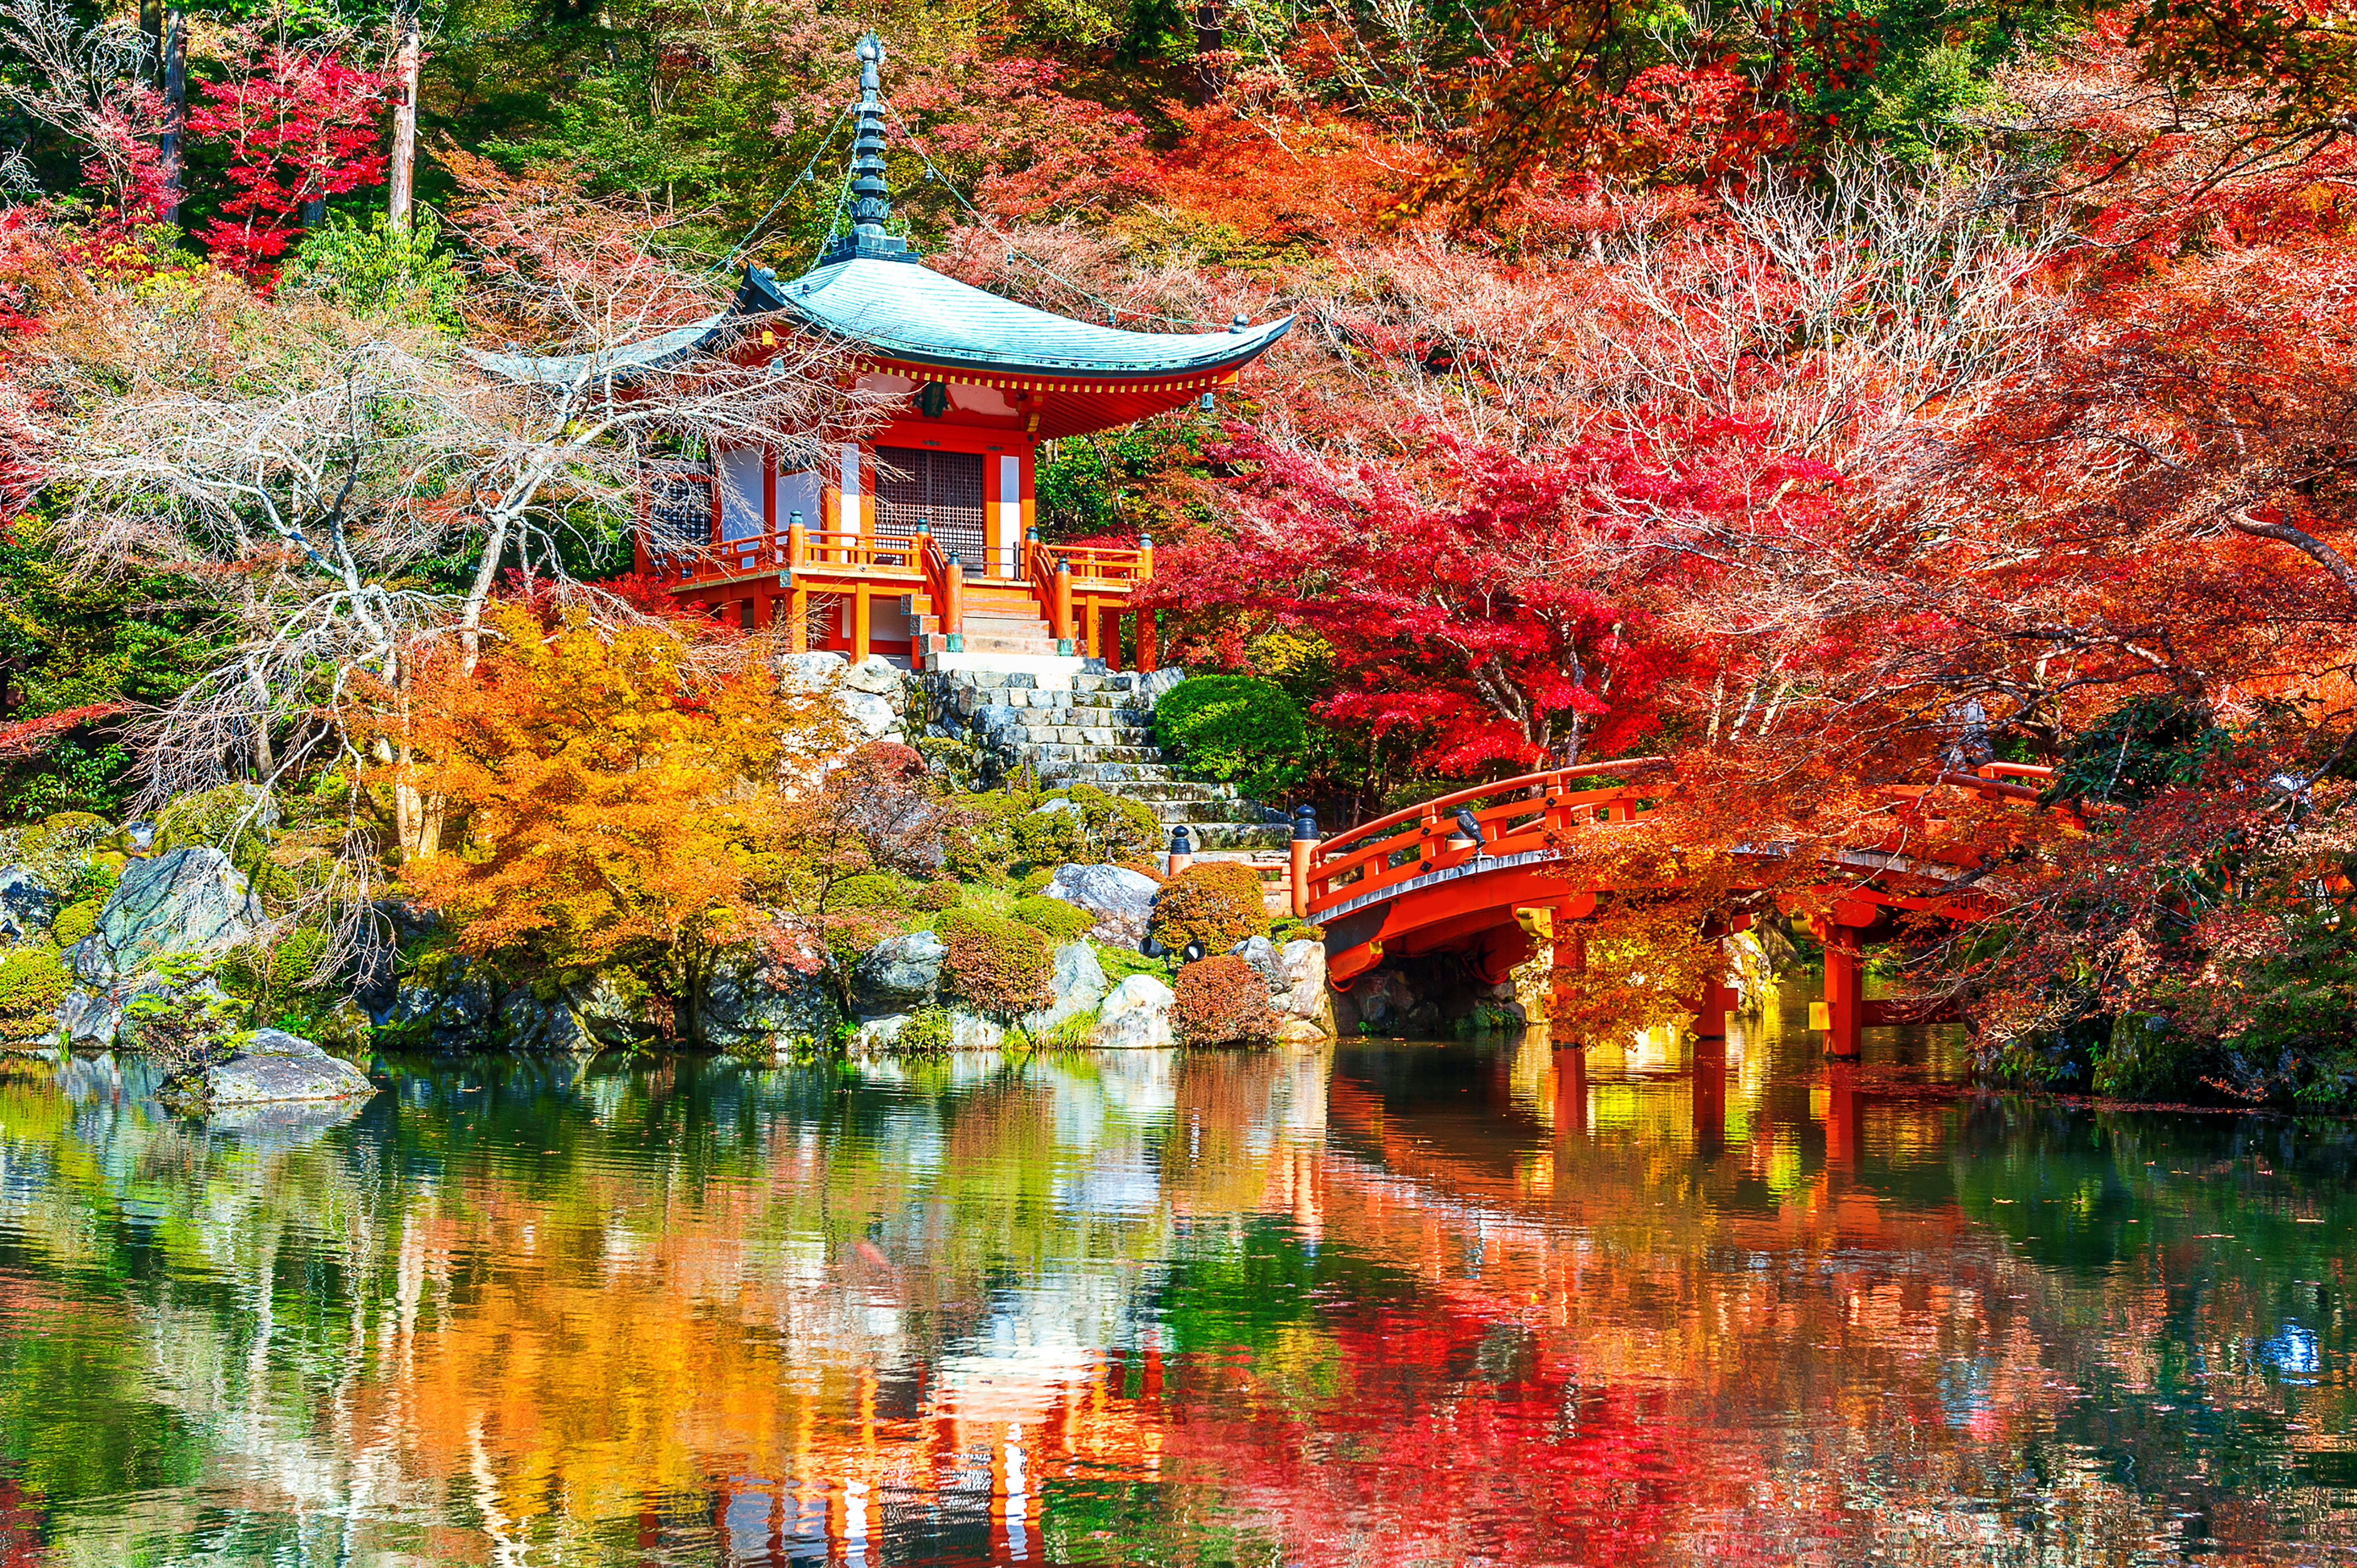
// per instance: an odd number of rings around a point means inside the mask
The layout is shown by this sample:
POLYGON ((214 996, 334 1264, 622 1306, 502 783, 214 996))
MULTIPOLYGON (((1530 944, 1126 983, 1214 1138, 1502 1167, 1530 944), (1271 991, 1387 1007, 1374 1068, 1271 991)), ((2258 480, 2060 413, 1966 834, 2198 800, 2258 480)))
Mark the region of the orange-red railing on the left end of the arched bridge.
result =
POLYGON ((1640 756, 1525 772, 1518 779, 1459 789, 1346 829, 1310 855, 1308 918, 1318 921, 1343 904, 1376 897, 1475 852, 1504 857, 1544 850, 1560 833, 1629 822, 1652 786, 1626 775, 1645 775, 1662 765, 1664 758, 1640 756), (1464 831, 1459 812, 1468 812, 1480 826, 1478 845, 1464 831))

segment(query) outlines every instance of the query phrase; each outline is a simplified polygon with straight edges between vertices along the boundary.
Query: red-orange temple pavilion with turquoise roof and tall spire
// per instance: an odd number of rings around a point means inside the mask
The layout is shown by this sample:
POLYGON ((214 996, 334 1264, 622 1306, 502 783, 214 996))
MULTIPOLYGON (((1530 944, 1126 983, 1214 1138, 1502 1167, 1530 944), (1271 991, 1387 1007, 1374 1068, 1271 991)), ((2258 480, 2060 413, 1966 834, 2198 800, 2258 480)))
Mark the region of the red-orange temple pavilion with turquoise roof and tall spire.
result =
MULTIPOLYGON (((658 476, 639 570, 797 647, 922 669, 1153 669, 1153 612, 1122 614, 1153 544, 1042 544, 1039 443, 1176 410, 1235 381, 1292 318, 1226 332, 1129 332, 1035 311, 929 268, 886 233, 882 45, 858 45, 849 226, 792 280, 747 268, 728 315, 783 318, 851 346, 893 412, 816 471, 721 450, 658 476)), ((728 315, 714 318, 726 323, 728 315)))

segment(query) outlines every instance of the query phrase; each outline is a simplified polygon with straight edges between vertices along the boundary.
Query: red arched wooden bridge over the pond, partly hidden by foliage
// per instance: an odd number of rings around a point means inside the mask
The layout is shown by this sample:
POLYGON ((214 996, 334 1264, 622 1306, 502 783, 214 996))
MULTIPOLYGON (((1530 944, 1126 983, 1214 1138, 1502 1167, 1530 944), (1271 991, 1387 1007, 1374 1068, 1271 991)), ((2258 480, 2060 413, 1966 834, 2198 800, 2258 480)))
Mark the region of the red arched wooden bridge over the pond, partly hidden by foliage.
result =
MULTIPOLYGON (((1895 935, 1902 916, 1963 923, 1989 911, 1978 850, 1921 848, 1940 843, 1937 786, 2039 810, 2039 791, 2020 779, 2048 777, 2051 768, 1992 763, 1942 772, 1935 786, 1888 786, 1886 833, 1817 857, 1822 876, 1813 885, 1780 892, 1824 942, 1820 1026, 1834 1055, 1857 1055, 1857 1031, 1867 1024, 1945 1015, 1921 1003, 1869 1003, 1860 989, 1867 944, 1895 935)), ((1598 885, 1579 850, 1603 848, 1593 836, 1626 831, 1671 789, 1664 758, 1631 758, 1475 784, 1327 841, 1296 829, 1294 909, 1325 928, 1327 977, 1336 989, 1384 958, 1426 954, 1454 954, 1494 984, 1537 951, 1541 935, 1577 932, 1596 913, 1598 895, 1612 888, 1598 885)), ((1763 871, 1789 859, 1777 845, 1737 852, 1763 871)), ((1749 916, 1728 921, 1728 930, 1744 925, 1749 916)), ((1732 1005, 1732 991, 1714 984, 1695 1003, 1697 1034, 1725 1034, 1732 1005)))

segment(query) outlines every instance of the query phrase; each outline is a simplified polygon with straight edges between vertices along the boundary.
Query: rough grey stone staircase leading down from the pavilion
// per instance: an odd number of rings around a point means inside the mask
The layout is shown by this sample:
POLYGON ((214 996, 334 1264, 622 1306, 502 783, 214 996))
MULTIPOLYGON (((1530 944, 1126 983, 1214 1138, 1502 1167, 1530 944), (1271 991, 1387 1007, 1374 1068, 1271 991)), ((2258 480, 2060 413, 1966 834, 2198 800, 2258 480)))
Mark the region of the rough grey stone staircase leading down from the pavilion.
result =
MULTIPOLYGON (((973 650, 971 610, 966 647, 973 650)), ((929 669, 922 680, 936 732, 971 737, 999 777, 1032 770, 1044 789, 1094 784, 1138 800, 1164 829, 1183 824, 1202 859, 1275 862, 1282 869, 1292 831, 1282 812, 1244 800, 1233 784, 1188 777, 1153 744, 1153 699, 1183 671, 1136 676, 1110 673, 1101 659, 1070 664, 1070 671, 1023 673, 929 669)))

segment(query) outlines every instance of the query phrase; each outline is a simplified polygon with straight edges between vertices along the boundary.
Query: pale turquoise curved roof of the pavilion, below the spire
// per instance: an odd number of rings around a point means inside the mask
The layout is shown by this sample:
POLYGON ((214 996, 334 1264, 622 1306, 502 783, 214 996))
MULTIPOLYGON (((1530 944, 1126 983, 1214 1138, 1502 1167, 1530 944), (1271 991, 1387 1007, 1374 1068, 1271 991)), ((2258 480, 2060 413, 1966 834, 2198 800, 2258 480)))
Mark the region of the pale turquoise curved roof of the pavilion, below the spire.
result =
POLYGON ((1226 370, 1259 358, 1294 318, 1240 332, 1124 332, 999 299, 915 259, 851 257, 792 283, 745 273, 742 311, 787 311, 816 327, 919 365, 1148 379, 1226 370))

